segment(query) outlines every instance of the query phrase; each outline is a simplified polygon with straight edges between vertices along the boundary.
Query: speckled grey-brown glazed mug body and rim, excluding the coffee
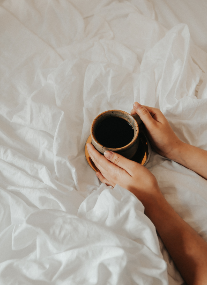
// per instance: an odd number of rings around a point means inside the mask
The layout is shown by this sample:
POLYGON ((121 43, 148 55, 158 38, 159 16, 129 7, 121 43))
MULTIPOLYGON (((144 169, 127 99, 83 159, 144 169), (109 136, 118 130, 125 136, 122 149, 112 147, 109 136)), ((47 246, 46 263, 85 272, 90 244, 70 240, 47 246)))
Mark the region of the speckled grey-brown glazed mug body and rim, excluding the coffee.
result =
POLYGON ((121 154, 122 156, 131 159, 136 151, 138 150, 138 145, 139 145, 139 139, 138 139, 138 134, 139 134, 139 124, 141 123, 141 119, 138 115, 133 115, 131 116, 127 112, 121 111, 121 110, 109 110, 101 113, 98 115, 92 125, 91 125, 91 138, 92 138, 92 144, 95 146, 95 148, 104 154, 106 150, 111 150, 114 152, 117 152, 121 154), (103 122, 105 119, 111 118, 111 117, 118 117, 121 119, 126 120, 133 128, 134 130, 134 137, 132 140, 126 144, 125 146, 119 147, 119 148, 109 148, 104 145, 102 145, 96 137, 96 129, 99 126, 101 122, 103 122))

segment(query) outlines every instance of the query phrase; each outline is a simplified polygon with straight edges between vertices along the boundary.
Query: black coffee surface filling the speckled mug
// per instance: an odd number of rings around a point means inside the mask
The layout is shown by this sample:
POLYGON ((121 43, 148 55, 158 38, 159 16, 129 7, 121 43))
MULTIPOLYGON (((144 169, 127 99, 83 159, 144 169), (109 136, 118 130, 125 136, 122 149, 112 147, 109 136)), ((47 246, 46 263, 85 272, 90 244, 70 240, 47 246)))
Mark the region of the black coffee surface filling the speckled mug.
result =
POLYGON ((110 117, 97 126, 95 136, 103 146, 120 148, 132 141, 134 129, 126 120, 119 117, 110 117))

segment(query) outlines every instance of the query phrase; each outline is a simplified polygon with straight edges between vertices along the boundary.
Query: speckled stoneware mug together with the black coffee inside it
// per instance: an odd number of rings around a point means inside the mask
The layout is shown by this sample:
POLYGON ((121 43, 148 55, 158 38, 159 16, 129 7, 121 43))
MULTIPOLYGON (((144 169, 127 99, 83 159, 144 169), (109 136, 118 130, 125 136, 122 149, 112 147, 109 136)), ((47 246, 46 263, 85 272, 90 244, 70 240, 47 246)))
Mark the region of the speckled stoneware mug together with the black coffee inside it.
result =
POLYGON ((91 125, 92 144, 102 154, 111 150, 131 159, 138 150, 141 122, 138 115, 131 116, 121 110, 105 111, 91 125))

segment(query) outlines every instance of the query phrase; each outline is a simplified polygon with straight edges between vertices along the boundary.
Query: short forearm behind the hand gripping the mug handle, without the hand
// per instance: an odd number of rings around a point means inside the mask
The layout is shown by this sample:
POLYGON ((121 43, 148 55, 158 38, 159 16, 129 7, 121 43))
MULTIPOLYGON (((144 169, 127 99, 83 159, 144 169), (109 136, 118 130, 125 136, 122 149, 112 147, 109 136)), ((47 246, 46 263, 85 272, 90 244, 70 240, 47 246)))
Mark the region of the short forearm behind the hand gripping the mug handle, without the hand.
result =
POLYGON ((181 142, 168 158, 193 170, 207 180, 207 151, 181 142))

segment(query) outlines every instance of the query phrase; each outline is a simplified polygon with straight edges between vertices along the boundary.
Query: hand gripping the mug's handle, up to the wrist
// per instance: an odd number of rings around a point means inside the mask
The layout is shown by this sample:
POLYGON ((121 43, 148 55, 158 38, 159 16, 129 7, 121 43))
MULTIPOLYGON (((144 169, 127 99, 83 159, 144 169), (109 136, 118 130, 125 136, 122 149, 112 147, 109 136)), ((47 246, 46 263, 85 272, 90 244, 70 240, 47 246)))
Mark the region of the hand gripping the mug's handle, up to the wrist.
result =
POLYGON ((163 113, 157 109, 134 103, 131 115, 138 114, 143 121, 153 148, 162 156, 172 159, 173 153, 182 144, 175 135, 163 113))

